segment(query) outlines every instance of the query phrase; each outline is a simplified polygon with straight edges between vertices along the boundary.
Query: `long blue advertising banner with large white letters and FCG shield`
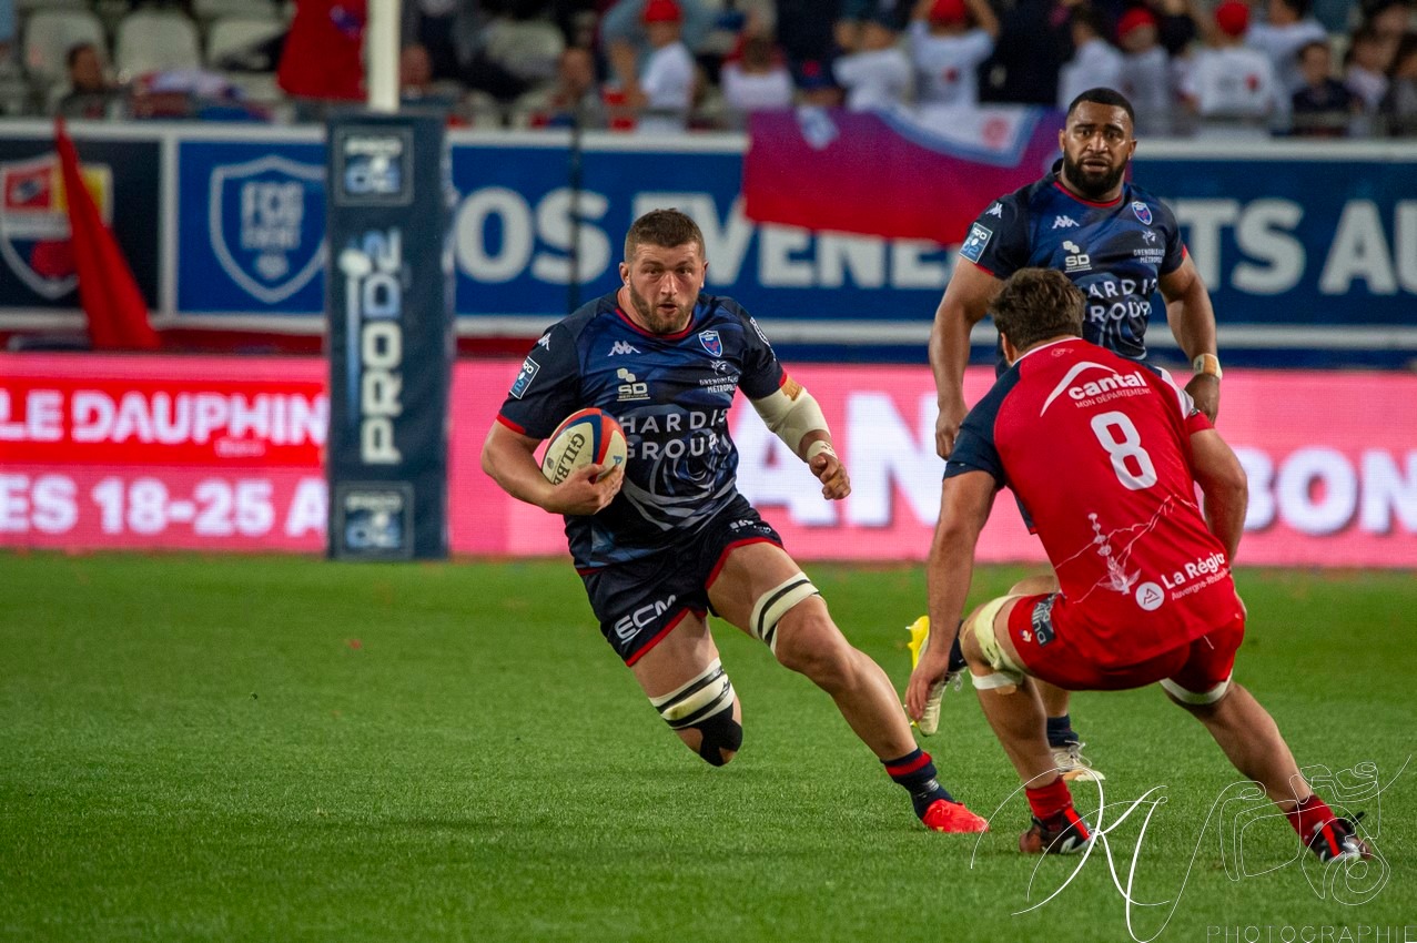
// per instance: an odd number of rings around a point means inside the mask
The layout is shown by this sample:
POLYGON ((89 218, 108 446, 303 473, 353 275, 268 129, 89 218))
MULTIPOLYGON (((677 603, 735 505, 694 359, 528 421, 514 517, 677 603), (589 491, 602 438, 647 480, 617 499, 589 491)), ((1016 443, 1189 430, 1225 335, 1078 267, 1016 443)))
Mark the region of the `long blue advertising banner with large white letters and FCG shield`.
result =
MULTIPOLYGON (((179 319, 316 316, 323 144, 213 137, 181 142, 177 154, 179 319)), ((459 333, 534 337, 578 300, 614 289, 629 222, 673 205, 704 231, 707 290, 737 297, 777 340, 922 357, 955 248, 748 219, 741 139, 646 152, 633 139, 592 136, 580 190, 570 177, 565 139, 554 133, 455 142, 459 333)), ((1152 143, 1134 177, 1175 208, 1226 350, 1417 350, 1417 200, 1407 193, 1417 150, 1277 143, 1220 154, 1152 143)), ((1159 304, 1153 317, 1163 320, 1159 304)), ((1169 331, 1158 324, 1152 338, 1165 347, 1169 331)))

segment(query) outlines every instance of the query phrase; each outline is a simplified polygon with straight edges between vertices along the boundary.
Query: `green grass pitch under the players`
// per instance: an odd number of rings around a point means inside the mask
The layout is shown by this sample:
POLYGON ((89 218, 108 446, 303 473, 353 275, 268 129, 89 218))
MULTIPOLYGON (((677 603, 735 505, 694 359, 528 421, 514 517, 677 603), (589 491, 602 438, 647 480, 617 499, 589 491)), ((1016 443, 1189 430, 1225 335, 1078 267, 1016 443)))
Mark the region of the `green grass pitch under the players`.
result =
MULTIPOLYGON (((921 571, 808 569, 901 687, 921 571)), ((1265 806, 1226 793, 1200 725, 1155 690, 1078 695, 1112 816, 1165 799, 1129 929, 1101 848, 1071 879, 1017 854, 1026 807, 968 688, 925 746, 1003 806, 978 848, 918 827, 830 701, 723 624, 747 738, 701 763, 567 562, 0 555, 0 939, 1417 940, 1417 581, 1238 581, 1237 678, 1301 766, 1348 770, 1331 799, 1376 767, 1355 810, 1383 862, 1331 886, 1274 818, 1223 845, 1217 800, 1265 806)), ((1110 834, 1124 886, 1148 808, 1110 834)))

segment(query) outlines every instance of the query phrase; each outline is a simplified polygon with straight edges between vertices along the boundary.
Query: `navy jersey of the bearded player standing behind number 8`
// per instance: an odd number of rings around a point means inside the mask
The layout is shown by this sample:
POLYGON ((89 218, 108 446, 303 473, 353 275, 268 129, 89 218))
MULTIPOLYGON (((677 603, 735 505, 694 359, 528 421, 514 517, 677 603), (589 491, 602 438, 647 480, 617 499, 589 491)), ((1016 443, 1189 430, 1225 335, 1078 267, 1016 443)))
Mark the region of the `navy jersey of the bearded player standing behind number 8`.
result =
POLYGON ((1083 200, 1063 187, 1060 167, 989 204, 959 255, 999 279, 1026 268, 1063 272, 1087 296, 1084 340, 1142 360, 1158 280, 1186 258, 1176 217, 1131 183, 1114 202, 1083 200))

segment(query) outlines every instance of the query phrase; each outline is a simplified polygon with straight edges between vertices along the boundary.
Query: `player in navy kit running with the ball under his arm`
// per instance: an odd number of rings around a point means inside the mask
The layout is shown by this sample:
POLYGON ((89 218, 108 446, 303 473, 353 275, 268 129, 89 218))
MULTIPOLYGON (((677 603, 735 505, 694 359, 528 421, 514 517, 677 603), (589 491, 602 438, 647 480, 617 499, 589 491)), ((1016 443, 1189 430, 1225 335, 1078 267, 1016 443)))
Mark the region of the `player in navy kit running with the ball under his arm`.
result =
POLYGON ((565 515, 601 631, 660 718, 713 766, 743 746, 743 708, 706 617, 764 641, 826 691, 937 831, 982 831, 911 738, 881 668, 853 648, 782 541, 735 486, 728 408, 741 389, 820 481, 850 493, 812 395, 782 370, 757 321, 703 293, 703 235, 682 212, 640 217, 625 239, 623 285, 558 321, 527 355, 483 443, 509 494, 565 515), (571 412, 614 415, 623 470, 585 466, 551 484, 538 442, 571 412))

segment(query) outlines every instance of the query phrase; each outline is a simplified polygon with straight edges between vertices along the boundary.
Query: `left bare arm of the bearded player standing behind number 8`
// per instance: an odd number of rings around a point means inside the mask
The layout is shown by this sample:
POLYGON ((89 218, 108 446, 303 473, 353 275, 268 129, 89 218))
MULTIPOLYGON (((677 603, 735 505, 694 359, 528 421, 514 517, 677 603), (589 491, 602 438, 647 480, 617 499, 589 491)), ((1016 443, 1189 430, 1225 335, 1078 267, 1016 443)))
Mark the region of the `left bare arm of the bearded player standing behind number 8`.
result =
POLYGON ((935 419, 935 452, 941 459, 955 447, 965 413, 965 367, 969 365, 969 330, 989 313, 1002 282, 973 262, 959 259, 935 309, 930 328, 930 368, 935 374, 939 418, 935 419))

